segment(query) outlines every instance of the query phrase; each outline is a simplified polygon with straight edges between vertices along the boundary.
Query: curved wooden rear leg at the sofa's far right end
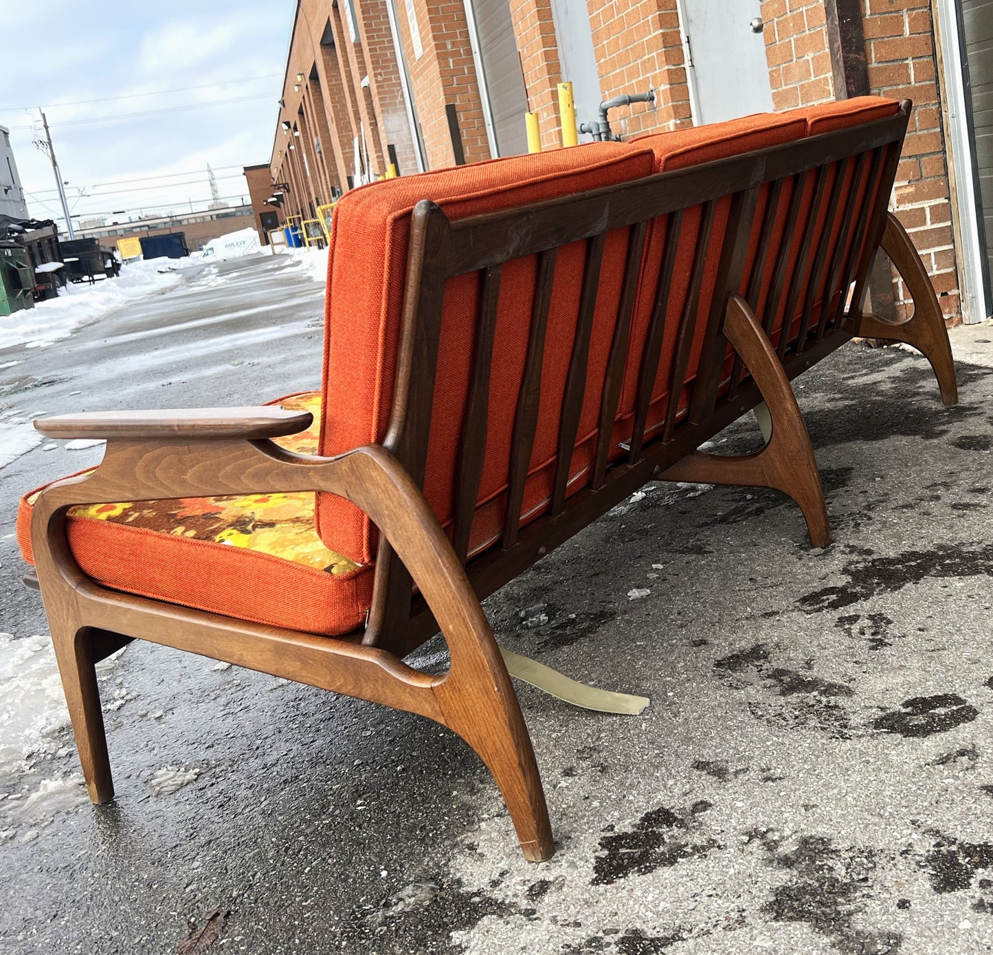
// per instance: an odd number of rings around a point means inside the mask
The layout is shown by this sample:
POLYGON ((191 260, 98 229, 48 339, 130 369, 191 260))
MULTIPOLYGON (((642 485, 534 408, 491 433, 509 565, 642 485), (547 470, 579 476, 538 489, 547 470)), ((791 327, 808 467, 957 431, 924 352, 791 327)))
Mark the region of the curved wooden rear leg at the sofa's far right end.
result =
POLYGON ((957 404, 958 386, 955 383, 955 364, 951 357, 948 330, 937 296, 927 277, 921 256, 907 230, 893 212, 888 213, 883 233, 883 251, 900 272, 904 285, 914 300, 914 315, 906 322, 883 322, 875 315, 864 315, 858 320, 855 334, 864 339, 903 341, 917 348, 930 362, 941 389, 941 400, 946 405, 957 404))

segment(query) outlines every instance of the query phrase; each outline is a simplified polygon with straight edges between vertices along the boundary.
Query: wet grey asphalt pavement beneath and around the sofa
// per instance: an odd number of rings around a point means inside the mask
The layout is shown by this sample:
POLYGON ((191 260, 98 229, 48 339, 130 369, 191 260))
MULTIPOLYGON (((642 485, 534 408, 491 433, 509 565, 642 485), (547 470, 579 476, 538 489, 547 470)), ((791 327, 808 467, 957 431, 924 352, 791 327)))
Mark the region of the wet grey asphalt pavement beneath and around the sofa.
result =
MULTIPOLYGON (((0 414, 314 387, 321 318, 283 260, 194 269, 0 352, 21 361, 0 414)), ((956 408, 898 348, 849 345, 796 382, 831 547, 776 492, 649 484, 488 602, 508 648, 652 700, 602 716, 518 687, 549 863, 523 861, 443 728, 134 643, 101 674, 113 803, 85 801, 58 716, 19 726, 35 751, 0 766, 0 949, 174 952, 220 909, 211 950, 259 955, 993 951, 993 328, 954 335, 956 408)), ((99 449, 43 447, 0 469, 0 660, 45 700, 44 614, 8 535, 20 493, 99 449)), ((444 665, 443 645, 413 662, 444 665)))

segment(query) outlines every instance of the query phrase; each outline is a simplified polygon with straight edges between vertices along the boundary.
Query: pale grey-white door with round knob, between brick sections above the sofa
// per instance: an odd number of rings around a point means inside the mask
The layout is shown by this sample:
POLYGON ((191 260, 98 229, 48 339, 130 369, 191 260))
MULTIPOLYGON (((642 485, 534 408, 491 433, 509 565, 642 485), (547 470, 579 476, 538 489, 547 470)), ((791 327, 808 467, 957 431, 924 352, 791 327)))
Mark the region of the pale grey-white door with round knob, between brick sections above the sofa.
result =
POLYGON ((759 0, 680 0, 697 126, 773 109, 759 0))

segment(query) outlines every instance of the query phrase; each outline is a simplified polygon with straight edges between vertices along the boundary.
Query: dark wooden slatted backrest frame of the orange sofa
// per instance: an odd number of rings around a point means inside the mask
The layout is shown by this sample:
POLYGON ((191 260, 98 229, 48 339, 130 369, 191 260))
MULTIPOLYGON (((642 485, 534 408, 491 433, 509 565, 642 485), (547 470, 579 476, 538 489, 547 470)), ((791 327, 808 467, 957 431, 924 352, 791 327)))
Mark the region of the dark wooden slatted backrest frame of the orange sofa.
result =
MULTIPOLYGON (((457 554, 468 559, 481 597, 761 400, 722 335, 730 293, 741 292, 749 301, 790 375, 847 340, 848 291, 854 284, 852 301, 860 301, 882 235, 909 110, 905 102, 887 119, 509 212, 450 222, 436 205, 417 207, 386 445, 423 479, 446 281, 475 273, 478 294, 474 313, 466 316, 475 325, 475 345, 452 476, 450 534, 457 554), (680 234, 691 215, 698 216, 692 266, 689 280, 677 283, 673 272, 683 248, 680 234), (726 224, 714 248, 711 232, 718 217, 726 224), (631 318, 636 297, 645 292, 639 282, 651 228, 663 229, 665 236, 659 281, 650 290, 651 319, 643 339, 633 342, 631 318), (585 269, 575 290, 571 335, 549 341, 556 262, 564 250, 574 252, 577 243, 582 243, 585 269), (624 264, 605 319, 598 292, 609 247, 614 260, 624 264), (705 268, 712 255, 716 270, 705 268), (497 314, 503 308, 501 276, 527 256, 537 257, 534 294, 529 302, 512 303, 524 355, 520 377, 510 382, 512 408, 495 408, 492 368, 497 314), (714 283, 710 290, 703 287, 707 273, 714 283), (677 284, 681 291, 672 301, 677 284), (706 309, 702 298, 709 302, 706 309), (605 355, 597 367, 590 361, 595 326, 596 346, 605 355), (534 442, 541 409, 547 407, 550 386, 542 380, 542 369, 549 348, 567 348, 570 360, 555 395, 557 437, 547 463, 549 477, 539 504, 532 501, 529 507, 528 473, 533 478, 541 464, 534 460, 534 442), (635 354, 638 366, 632 368, 629 356, 635 354), (653 410, 660 368, 665 369, 665 400, 655 400, 653 410), (627 415, 619 414, 626 377, 637 381, 627 415), (587 438, 581 426, 591 406, 594 427, 587 438), (512 440, 501 487, 481 506, 481 477, 492 452, 489 436, 495 416, 507 414, 512 414, 512 440), (493 520, 494 513, 496 532, 488 527, 480 535, 481 518, 493 520)), ((499 385, 505 392, 507 382, 499 385)), ((409 577, 384 542, 376 575, 366 641, 406 652, 432 632, 430 613, 415 604, 410 622, 409 577)))

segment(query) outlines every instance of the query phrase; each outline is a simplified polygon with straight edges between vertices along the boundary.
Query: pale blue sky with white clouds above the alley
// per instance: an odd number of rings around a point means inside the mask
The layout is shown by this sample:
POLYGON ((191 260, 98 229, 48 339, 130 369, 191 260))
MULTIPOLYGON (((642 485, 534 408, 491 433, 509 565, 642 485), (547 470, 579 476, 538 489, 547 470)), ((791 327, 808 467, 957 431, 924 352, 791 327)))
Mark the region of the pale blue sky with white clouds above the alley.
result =
POLYGON ((44 135, 39 107, 76 223, 206 208, 209 163, 221 199, 247 201, 241 168, 269 160, 295 7, 0 0, 0 126, 29 213, 63 217, 33 144, 44 135))

